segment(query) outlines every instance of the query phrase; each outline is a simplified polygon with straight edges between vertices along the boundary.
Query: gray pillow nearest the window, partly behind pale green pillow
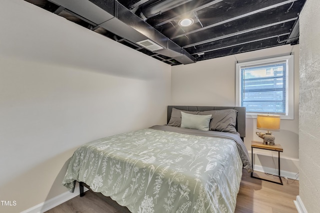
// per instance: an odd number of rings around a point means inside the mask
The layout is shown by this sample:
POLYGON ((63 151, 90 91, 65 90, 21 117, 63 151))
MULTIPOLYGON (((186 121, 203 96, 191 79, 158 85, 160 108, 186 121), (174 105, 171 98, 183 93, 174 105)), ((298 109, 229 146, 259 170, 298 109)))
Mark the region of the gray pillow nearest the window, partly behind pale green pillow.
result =
POLYGON ((236 116, 235 109, 210 110, 199 112, 198 115, 212 115, 210 122, 210 131, 236 133, 236 116))

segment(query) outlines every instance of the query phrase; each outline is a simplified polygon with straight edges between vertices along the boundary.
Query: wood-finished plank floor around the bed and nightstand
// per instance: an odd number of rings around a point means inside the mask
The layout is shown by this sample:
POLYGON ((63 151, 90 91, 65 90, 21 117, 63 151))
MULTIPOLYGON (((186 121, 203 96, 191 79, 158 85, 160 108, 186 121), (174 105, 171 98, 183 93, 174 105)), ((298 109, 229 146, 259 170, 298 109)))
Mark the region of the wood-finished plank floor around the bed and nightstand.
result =
MULTIPOLYGON (((255 176, 279 181, 278 177, 256 173, 255 176)), ((297 213, 293 201, 299 193, 299 182, 282 179, 283 186, 254 179, 243 170, 234 213, 297 213), (292 183, 293 182, 293 183, 292 183)), ((129 213, 110 198, 90 191, 75 197, 46 213, 129 213)))

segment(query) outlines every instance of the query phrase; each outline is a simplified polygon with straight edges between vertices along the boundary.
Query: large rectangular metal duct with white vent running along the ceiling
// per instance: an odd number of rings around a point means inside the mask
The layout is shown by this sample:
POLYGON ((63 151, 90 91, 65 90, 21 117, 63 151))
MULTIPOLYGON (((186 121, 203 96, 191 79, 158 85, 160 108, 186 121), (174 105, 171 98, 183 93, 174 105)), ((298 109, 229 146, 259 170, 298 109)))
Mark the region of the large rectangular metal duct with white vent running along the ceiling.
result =
POLYGON ((171 57, 182 64, 195 62, 195 58, 182 47, 165 37, 117 0, 50 1, 131 42, 150 39, 162 47, 152 52, 171 57))

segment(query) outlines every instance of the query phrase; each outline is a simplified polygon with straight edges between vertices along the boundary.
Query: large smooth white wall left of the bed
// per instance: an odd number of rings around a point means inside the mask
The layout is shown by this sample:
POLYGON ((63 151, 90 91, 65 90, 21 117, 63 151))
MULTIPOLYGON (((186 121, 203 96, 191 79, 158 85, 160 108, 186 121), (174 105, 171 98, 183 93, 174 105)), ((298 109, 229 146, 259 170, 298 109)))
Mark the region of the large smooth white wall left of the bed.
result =
POLYGON ((0 212, 66 192, 79 145, 166 122, 169 65, 23 0, 0 26, 0 212))

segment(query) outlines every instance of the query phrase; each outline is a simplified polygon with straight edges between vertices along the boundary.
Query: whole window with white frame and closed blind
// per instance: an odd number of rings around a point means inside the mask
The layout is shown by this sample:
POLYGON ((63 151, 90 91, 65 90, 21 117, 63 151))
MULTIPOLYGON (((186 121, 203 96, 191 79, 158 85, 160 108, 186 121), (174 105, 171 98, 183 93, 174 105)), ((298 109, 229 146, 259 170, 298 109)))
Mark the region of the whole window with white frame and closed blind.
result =
POLYGON ((236 64, 236 103, 247 117, 293 119, 293 55, 236 64))

